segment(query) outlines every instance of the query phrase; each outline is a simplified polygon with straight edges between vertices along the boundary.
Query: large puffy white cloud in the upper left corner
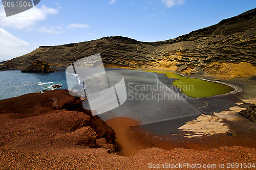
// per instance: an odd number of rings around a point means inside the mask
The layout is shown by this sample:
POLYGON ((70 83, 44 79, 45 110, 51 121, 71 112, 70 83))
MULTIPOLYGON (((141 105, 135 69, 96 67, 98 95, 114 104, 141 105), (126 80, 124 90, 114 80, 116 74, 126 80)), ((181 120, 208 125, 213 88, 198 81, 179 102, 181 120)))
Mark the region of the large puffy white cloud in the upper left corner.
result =
MULTIPOLYGON (((42 5, 40 8, 35 6, 13 16, 0 17, 0 26, 4 28, 11 27, 20 30, 31 30, 31 26, 35 25, 38 21, 46 20, 49 15, 56 13, 58 13, 58 9, 50 8, 45 5, 42 5)), ((3 6, 0 7, 0 15, 6 16, 3 6)))

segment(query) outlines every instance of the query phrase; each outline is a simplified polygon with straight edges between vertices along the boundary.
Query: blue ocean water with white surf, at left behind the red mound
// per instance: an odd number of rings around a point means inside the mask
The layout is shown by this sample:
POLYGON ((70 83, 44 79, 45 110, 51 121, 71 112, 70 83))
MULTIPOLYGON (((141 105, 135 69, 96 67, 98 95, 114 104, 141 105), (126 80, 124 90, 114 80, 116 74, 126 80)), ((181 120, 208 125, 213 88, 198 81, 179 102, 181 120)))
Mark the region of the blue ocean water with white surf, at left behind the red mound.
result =
POLYGON ((48 74, 0 71, 0 100, 45 89, 52 90, 53 84, 61 84, 62 88, 68 89, 65 71, 48 74))

